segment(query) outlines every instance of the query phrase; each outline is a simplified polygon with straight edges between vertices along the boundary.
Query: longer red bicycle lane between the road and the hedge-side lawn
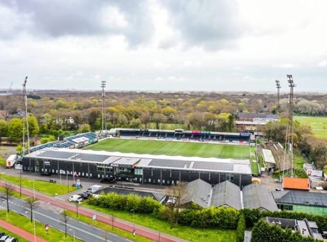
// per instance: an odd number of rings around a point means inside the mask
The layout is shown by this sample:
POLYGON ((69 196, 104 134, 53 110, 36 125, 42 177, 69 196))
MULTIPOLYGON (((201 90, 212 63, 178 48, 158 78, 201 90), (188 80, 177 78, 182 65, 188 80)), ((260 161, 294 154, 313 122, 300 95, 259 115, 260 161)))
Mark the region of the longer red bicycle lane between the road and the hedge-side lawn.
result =
MULTIPOLYGON (((1 185, 3 186, 4 184, 1 182, 1 185)), ((13 189, 15 191, 19 192, 19 187, 14 186, 13 189)), ((41 200, 46 203, 50 203, 54 206, 57 206, 57 207, 60 207, 60 208, 63 208, 63 209, 69 210, 69 211, 75 212, 77 209, 75 205, 71 205, 66 202, 60 202, 58 200, 55 200, 54 197, 44 195, 39 192, 34 193, 33 191, 22 188, 21 193, 28 195, 28 196, 35 195, 36 199, 38 199, 38 200, 41 200)), ((106 223, 108 225, 112 225, 111 218, 109 218, 106 215, 103 215, 97 211, 83 208, 83 207, 78 207, 78 213, 82 214, 84 216, 87 216, 87 217, 92 217, 94 214, 96 214, 97 221, 106 223)), ((133 230, 135 228, 136 234, 141 235, 146 238, 149 238, 149 239, 152 239, 154 241, 160 241, 160 242, 186 242, 186 241, 188 241, 188 240, 180 239, 180 238, 177 238, 172 235, 165 234, 165 233, 160 233, 160 235, 159 235, 158 231, 155 231, 155 230, 143 227, 143 226, 139 226, 136 224, 134 226, 132 223, 123 221, 122 219, 115 218, 113 221, 113 226, 116 228, 120 228, 120 229, 129 231, 131 233, 133 233, 133 230)))

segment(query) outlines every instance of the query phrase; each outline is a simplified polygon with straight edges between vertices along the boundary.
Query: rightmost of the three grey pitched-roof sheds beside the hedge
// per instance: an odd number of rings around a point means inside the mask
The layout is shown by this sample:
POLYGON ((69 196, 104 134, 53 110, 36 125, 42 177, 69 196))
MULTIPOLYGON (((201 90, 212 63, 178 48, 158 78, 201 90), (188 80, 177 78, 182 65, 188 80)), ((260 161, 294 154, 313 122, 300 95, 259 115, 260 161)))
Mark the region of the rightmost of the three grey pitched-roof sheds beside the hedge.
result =
POLYGON ((244 208, 256 208, 260 211, 278 210, 271 192, 257 183, 252 183, 243 187, 242 194, 244 208))

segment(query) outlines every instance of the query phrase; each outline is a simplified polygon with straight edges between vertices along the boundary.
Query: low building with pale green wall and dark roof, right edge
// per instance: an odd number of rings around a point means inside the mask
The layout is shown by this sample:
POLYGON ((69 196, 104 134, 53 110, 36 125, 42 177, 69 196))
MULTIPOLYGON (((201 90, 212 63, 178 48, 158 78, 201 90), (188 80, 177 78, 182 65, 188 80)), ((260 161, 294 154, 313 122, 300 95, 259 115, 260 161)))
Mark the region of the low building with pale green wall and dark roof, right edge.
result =
POLYGON ((282 210, 327 215, 327 193, 284 190, 272 194, 282 210))

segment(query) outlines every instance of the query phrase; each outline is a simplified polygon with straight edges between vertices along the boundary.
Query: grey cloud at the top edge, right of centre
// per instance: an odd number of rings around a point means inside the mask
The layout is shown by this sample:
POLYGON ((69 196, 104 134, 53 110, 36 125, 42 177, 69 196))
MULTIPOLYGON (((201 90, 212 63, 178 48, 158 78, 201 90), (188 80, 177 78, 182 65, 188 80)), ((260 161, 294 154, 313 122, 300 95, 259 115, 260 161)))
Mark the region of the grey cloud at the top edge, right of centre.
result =
POLYGON ((225 49, 242 33, 234 0, 170 0, 165 2, 165 7, 169 10, 171 25, 188 45, 225 49))

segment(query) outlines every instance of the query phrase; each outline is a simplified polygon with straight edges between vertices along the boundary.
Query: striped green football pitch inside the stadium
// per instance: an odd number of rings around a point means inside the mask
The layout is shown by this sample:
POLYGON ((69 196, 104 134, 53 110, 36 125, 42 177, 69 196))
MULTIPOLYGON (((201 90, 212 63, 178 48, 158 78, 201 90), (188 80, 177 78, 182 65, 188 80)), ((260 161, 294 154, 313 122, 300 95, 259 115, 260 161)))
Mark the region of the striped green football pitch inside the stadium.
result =
POLYGON ((215 157, 250 159, 250 156, 252 156, 252 158, 255 156, 254 147, 250 147, 248 145, 227 145, 156 140, 107 139, 89 145, 84 149, 204 158, 215 157))

